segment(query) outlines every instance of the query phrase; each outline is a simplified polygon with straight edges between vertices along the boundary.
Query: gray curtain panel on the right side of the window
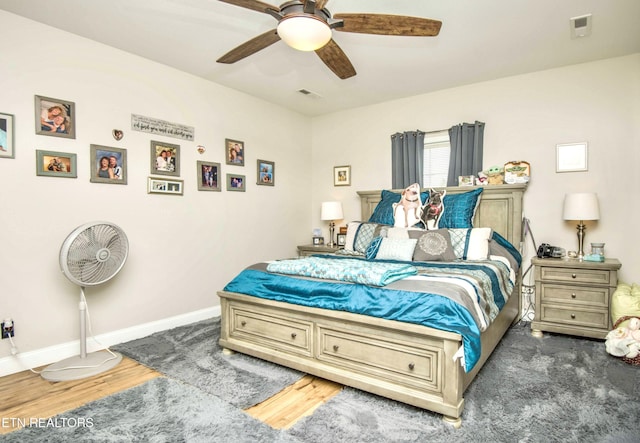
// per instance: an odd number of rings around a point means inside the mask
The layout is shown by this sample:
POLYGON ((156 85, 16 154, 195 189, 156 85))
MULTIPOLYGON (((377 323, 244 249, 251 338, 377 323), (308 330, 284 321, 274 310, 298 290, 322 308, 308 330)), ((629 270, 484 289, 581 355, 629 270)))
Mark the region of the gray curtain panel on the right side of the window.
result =
POLYGON ((482 171, 484 123, 462 123, 449 129, 451 157, 447 186, 458 186, 461 175, 478 175, 482 171))

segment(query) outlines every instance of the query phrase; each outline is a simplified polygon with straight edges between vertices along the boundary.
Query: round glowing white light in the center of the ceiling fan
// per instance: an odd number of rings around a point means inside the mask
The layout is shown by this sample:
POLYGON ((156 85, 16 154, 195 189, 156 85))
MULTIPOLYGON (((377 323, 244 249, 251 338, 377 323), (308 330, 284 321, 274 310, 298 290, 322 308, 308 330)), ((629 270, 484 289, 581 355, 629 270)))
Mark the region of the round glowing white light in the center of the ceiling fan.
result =
POLYGON ((331 28, 314 15, 292 15, 280 20, 278 35, 294 49, 315 51, 329 43, 331 28))

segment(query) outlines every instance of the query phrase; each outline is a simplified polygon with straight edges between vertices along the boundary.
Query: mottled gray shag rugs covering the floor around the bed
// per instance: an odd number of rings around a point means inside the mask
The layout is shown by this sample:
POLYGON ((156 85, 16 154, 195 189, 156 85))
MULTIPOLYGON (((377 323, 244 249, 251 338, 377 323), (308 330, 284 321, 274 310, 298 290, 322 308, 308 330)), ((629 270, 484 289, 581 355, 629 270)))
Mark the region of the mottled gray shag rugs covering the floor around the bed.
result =
POLYGON ((602 341, 531 337, 510 329, 465 394, 462 428, 412 406, 345 388, 286 431, 240 408, 301 374, 217 345, 219 319, 117 347, 167 375, 85 405, 61 418, 87 428, 29 428, 0 441, 157 442, 638 442, 640 367, 604 351, 602 341))

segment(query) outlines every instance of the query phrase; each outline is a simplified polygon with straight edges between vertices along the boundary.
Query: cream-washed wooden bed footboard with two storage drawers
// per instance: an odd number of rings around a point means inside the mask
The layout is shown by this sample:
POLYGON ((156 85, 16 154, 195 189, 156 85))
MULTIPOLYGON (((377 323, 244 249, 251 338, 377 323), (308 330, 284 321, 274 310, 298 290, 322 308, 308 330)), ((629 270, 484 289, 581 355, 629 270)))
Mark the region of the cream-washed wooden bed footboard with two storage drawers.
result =
MULTIPOLYGON (((460 425, 463 392, 477 373, 466 374, 453 360, 460 335, 226 291, 218 295, 223 348, 440 413, 460 425)), ((496 337, 511 320, 505 316, 496 337)))

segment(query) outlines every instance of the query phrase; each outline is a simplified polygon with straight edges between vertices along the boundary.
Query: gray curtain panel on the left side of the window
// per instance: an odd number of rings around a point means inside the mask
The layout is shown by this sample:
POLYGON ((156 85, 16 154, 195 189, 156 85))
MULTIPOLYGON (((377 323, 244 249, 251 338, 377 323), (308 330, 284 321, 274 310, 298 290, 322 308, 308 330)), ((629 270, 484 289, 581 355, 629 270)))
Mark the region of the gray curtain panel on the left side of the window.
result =
POLYGON ((404 189, 414 183, 422 188, 424 132, 396 132, 391 136, 391 186, 404 189))

